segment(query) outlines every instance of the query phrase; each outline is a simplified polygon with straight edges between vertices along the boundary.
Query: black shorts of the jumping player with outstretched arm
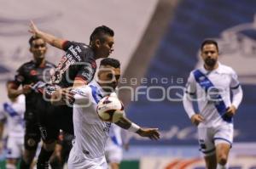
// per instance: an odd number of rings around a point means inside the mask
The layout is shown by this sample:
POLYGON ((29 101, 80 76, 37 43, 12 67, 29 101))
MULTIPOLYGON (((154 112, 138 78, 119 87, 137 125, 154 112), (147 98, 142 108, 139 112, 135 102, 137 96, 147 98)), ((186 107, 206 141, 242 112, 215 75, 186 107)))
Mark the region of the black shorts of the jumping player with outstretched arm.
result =
POLYGON ((38 123, 41 138, 45 143, 57 140, 60 129, 73 134, 73 108, 67 105, 55 106, 38 99, 38 123))

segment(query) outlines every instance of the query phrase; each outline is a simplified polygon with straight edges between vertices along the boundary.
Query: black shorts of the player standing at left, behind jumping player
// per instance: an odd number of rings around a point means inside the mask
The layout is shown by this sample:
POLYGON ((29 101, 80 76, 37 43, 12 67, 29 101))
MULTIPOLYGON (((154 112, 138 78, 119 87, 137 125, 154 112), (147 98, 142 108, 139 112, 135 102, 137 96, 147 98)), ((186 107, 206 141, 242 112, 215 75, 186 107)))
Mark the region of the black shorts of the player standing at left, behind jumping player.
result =
POLYGON ((38 148, 38 143, 40 142, 41 135, 38 128, 37 112, 35 110, 26 110, 25 124, 25 149, 36 150, 38 148))

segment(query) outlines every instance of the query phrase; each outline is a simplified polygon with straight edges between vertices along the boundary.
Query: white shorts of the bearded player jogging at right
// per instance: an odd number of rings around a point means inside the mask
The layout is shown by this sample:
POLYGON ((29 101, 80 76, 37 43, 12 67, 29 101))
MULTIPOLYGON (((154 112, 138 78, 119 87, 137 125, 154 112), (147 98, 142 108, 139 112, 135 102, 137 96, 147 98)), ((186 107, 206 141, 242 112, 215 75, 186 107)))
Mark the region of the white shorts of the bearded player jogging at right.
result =
POLYGON ((205 156, 213 155, 217 144, 230 144, 230 147, 232 147, 233 132, 234 127, 232 123, 224 123, 218 127, 199 125, 198 141, 201 152, 205 156))

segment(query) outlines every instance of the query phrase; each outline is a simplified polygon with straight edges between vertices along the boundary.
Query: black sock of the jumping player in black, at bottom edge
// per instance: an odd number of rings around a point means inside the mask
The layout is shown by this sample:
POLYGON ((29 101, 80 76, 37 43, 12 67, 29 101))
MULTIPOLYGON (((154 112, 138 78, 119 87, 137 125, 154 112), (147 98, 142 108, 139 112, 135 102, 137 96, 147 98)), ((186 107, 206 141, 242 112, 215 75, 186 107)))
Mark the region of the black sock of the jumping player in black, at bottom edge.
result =
POLYGON ((44 147, 41 148, 40 154, 38 156, 37 169, 48 169, 49 168, 49 157, 54 151, 46 151, 44 147))

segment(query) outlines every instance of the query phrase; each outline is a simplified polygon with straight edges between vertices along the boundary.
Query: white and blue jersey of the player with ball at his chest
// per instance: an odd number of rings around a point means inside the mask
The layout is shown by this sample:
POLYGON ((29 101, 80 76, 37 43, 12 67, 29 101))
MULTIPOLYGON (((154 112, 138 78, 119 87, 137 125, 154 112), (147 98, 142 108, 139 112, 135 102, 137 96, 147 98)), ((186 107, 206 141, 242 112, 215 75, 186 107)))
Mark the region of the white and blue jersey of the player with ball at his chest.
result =
POLYGON ((110 122, 102 121, 96 113, 96 106, 106 93, 95 81, 74 90, 73 127, 75 143, 73 152, 85 159, 104 157, 110 122))

